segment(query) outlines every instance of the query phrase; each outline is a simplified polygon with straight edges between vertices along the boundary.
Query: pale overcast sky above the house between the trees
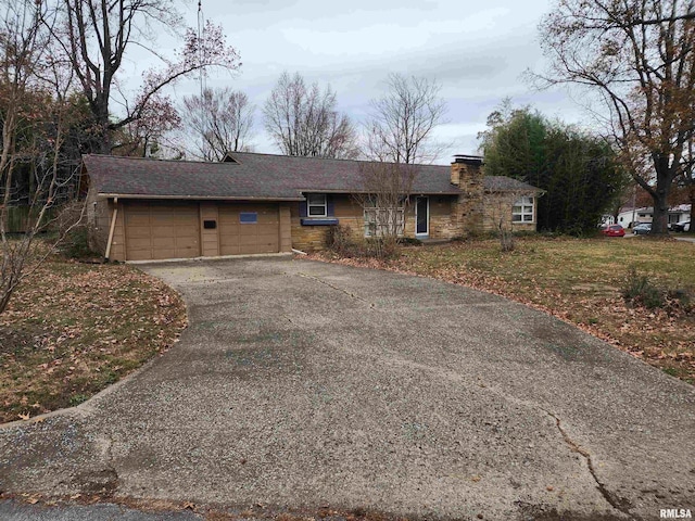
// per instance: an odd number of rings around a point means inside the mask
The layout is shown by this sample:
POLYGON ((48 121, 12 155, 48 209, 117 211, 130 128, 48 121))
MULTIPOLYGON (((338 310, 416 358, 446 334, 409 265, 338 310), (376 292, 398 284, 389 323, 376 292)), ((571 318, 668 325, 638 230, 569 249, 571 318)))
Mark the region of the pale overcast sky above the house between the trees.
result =
MULTIPOLYGON (((389 73, 435 78, 448 105, 437 138, 452 143, 442 164, 477 152, 477 134, 505 97, 568 123, 582 117, 564 91, 536 92, 521 78, 543 66, 538 24, 551 9, 547 0, 202 0, 202 8, 243 62, 233 76, 213 73, 207 86, 249 94, 256 105, 256 152, 279 152, 265 136, 261 109, 283 71, 330 84, 339 110, 355 122, 384 91, 389 73)), ((186 16, 194 26, 195 5, 186 16)), ((175 98, 197 89, 194 81, 180 84, 175 98)))

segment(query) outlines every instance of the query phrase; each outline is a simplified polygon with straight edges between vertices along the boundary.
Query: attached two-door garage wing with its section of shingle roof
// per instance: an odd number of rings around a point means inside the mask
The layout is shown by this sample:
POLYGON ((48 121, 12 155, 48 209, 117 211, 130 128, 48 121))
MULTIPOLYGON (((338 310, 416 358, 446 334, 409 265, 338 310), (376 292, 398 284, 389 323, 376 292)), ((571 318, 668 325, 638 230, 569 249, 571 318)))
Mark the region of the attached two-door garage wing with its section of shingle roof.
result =
POLYGON ((292 186, 252 164, 87 155, 90 245, 110 260, 290 254, 292 186))

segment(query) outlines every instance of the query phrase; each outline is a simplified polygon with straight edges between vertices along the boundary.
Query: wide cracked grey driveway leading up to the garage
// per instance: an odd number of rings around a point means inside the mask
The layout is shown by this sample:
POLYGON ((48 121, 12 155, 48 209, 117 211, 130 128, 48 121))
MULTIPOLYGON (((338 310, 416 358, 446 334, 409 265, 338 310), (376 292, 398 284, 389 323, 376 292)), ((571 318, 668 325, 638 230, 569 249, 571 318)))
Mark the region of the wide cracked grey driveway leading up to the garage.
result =
POLYGON ((695 390, 544 314, 289 258, 142 269, 184 294, 180 343, 0 429, 1 491, 491 520, 695 511, 695 390))

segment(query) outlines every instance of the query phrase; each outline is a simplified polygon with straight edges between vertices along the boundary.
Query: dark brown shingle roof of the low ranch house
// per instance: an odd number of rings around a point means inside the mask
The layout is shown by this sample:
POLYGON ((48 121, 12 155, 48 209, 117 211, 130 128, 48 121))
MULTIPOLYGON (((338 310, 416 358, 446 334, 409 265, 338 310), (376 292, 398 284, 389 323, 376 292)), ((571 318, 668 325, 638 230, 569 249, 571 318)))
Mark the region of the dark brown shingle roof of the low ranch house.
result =
MULTIPOLYGON (((86 155, 84 164, 98 192, 110 195, 303 200, 302 192, 307 191, 354 193, 362 190, 359 165, 365 162, 250 152, 233 152, 232 156, 237 163, 86 155)), ((413 192, 462 193, 450 182, 450 175, 448 166, 417 165, 413 192)), ((488 186, 488 179, 491 178, 485 178, 485 189, 495 189, 488 186)), ((530 185, 522 185, 533 190, 530 185)))

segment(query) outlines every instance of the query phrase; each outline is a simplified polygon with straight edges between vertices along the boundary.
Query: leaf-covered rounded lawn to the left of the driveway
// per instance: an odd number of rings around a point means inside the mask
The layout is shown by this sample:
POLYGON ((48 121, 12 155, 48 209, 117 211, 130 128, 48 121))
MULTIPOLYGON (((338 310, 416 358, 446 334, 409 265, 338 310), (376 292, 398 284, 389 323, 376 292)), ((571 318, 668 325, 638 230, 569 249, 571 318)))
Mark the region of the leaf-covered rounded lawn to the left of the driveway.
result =
POLYGON ((185 325, 178 294, 130 266, 49 257, 0 315, 0 422, 84 402, 185 325))

